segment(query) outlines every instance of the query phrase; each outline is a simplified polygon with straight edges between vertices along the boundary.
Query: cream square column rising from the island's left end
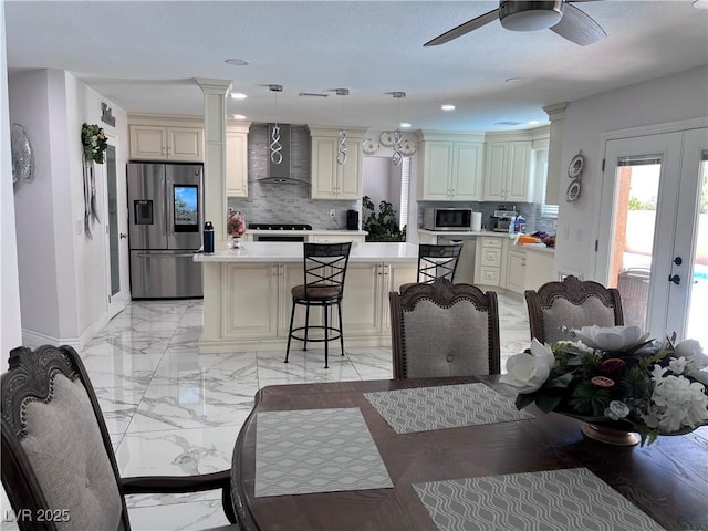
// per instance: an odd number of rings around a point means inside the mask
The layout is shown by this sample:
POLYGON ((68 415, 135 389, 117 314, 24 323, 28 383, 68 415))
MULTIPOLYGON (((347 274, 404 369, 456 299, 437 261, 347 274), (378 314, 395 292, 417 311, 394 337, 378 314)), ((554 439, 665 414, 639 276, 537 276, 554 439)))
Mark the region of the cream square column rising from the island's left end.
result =
POLYGON ((215 248, 226 249, 226 96, 231 81, 195 81, 204 92, 205 220, 214 223, 215 248))

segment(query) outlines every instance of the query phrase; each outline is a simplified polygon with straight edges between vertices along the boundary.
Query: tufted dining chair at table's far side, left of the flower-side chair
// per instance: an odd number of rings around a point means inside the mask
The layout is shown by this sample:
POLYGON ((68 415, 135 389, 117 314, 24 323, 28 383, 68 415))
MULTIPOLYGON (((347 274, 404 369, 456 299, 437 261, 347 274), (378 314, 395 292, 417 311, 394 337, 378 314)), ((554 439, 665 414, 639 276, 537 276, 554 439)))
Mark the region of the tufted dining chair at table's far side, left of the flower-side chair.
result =
POLYGON ((497 293, 436 279, 388 293, 394 378, 499 374, 497 293))

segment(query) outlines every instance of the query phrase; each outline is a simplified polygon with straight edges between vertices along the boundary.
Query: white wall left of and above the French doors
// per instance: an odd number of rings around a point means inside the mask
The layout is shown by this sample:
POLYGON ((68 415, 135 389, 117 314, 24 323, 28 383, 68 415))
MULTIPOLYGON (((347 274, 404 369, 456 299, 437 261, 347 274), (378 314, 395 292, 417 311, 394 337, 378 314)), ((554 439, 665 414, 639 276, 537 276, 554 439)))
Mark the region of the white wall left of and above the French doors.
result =
MULTIPOLYGON (((577 100, 565 111, 562 167, 582 150, 582 196, 564 202, 569 178, 561 180, 555 268, 592 279, 593 233, 602 184, 602 135, 613 131, 708 116, 708 67, 694 69, 617 91, 577 100)), ((595 279, 604 282, 606 279, 595 279)))

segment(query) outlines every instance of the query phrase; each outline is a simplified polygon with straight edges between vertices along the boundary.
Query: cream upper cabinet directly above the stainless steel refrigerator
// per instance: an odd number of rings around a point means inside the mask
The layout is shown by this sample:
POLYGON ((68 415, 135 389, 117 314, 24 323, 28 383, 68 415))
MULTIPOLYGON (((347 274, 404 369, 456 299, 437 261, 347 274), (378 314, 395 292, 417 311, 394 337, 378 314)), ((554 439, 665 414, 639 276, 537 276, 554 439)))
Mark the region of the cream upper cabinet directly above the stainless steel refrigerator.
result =
POLYGON ((204 124, 190 117, 129 115, 131 159, 204 162, 204 124))

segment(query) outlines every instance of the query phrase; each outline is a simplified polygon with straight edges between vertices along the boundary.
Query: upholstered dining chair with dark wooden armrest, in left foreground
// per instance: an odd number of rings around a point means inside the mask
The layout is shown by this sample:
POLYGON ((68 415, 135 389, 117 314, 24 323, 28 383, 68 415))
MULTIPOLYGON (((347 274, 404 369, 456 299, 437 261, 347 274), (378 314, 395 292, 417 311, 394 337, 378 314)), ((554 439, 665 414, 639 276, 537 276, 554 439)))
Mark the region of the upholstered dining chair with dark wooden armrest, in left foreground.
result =
POLYGON ((126 494, 216 489, 236 523, 230 470, 121 478, 88 374, 71 346, 13 348, 0 389, 2 485, 21 530, 129 530, 126 494))

